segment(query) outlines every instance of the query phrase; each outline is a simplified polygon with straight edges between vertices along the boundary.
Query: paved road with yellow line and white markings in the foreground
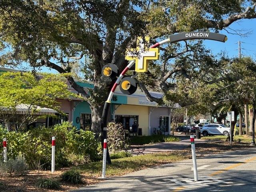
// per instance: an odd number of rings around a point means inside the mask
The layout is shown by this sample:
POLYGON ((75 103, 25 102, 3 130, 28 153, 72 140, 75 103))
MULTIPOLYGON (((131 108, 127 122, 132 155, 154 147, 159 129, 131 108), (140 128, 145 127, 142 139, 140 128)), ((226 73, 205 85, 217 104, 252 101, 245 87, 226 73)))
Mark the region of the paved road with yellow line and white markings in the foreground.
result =
POLYGON ((199 158, 198 182, 193 181, 192 160, 165 164, 108 178, 73 192, 254 192, 256 148, 199 158))

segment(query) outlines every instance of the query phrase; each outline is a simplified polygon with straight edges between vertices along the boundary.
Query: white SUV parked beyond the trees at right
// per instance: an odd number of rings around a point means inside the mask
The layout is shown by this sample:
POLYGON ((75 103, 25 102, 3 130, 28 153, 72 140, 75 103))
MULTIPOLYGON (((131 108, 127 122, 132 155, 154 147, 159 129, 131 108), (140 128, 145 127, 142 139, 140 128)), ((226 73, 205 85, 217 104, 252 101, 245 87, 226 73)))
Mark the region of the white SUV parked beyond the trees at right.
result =
POLYGON ((208 135, 228 136, 230 134, 230 128, 222 124, 214 124, 214 123, 203 126, 200 131, 203 134, 203 136, 208 136, 208 135))

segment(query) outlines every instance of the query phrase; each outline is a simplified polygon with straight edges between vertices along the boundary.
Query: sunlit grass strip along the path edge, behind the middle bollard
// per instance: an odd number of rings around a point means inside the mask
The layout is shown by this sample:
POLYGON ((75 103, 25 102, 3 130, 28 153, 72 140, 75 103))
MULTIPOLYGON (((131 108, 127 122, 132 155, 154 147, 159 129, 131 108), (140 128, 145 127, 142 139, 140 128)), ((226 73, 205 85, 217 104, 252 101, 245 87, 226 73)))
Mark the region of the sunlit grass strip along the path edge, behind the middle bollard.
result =
MULTIPOLYGON (((133 172, 160 164, 178 162, 186 158, 186 156, 178 152, 167 152, 114 159, 112 160, 112 164, 107 165, 106 175, 123 175, 128 172, 133 172)), ((81 165, 78 166, 78 169, 84 174, 100 176, 102 172, 102 162, 92 162, 86 165, 81 165)))

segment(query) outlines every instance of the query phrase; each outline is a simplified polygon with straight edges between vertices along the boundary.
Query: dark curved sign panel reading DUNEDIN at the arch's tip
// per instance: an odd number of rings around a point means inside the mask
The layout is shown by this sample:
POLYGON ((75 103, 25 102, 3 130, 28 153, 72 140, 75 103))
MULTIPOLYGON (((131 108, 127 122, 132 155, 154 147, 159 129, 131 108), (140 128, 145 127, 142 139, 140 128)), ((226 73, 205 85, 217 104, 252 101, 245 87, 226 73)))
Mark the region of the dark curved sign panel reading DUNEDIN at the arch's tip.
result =
POLYGON ((228 40, 226 35, 211 33, 211 32, 186 32, 175 35, 170 35, 170 43, 178 41, 192 40, 192 39, 209 39, 220 42, 228 40))

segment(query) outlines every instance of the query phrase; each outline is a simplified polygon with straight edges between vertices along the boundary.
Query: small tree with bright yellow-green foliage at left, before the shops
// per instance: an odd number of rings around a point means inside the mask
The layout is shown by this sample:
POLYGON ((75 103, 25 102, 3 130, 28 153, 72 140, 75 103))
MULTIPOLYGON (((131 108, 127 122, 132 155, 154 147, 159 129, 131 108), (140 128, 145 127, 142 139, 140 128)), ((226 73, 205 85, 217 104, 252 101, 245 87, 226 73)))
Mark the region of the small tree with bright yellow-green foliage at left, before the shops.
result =
POLYGON ((68 90, 66 79, 55 74, 31 72, 2 72, 0 74, 0 119, 16 124, 16 129, 34 122, 40 108, 46 107, 61 112, 56 98, 77 97, 68 90), (22 113, 18 113, 23 108, 22 113), (20 116, 18 118, 17 116, 20 116))

